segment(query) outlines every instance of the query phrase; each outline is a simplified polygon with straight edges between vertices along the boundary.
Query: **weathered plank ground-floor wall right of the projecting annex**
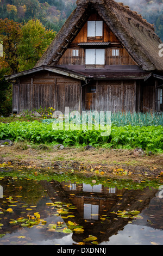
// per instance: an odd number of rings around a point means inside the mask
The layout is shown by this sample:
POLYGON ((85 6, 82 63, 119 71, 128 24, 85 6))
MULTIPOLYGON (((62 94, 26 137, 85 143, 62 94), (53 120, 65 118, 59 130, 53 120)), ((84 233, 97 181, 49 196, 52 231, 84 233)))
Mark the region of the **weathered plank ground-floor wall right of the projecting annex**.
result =
POLYGON ((90 86, 96 86, 96 93, 87 93, 87 86, 83 88, 83 110, 136 111, 135 81, 97 81, 90 86))

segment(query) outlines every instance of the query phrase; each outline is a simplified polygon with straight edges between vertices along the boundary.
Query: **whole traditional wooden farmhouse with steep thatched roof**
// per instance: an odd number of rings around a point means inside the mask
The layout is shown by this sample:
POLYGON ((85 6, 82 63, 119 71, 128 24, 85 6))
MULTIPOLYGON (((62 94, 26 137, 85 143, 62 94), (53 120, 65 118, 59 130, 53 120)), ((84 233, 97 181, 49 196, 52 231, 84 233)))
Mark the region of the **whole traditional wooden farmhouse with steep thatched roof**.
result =
POLYGON ((162 111, 161 41, 135 11, 114 0, 78 0, 31 70, 7 76, 13 113, 162 111))

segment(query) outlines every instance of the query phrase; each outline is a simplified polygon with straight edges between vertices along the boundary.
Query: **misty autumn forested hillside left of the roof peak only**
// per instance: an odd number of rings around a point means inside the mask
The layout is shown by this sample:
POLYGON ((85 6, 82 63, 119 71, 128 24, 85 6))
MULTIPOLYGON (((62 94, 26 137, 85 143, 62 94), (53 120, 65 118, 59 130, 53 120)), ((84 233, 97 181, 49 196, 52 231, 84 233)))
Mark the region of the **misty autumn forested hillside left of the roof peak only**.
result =
POLYGON ((39 19, 44 26, 58 32, 75 4, 76 0, 0 0, 0 17, 23 23, 39 19))

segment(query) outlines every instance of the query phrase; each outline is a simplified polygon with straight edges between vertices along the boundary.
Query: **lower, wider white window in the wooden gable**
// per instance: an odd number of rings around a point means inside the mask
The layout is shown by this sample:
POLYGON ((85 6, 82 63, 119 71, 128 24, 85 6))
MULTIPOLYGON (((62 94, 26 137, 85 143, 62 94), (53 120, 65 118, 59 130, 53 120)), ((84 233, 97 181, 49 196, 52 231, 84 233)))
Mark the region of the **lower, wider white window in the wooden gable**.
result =
POLYGON ((85 49, 85 65, 105 65, 105 49, 85 49))

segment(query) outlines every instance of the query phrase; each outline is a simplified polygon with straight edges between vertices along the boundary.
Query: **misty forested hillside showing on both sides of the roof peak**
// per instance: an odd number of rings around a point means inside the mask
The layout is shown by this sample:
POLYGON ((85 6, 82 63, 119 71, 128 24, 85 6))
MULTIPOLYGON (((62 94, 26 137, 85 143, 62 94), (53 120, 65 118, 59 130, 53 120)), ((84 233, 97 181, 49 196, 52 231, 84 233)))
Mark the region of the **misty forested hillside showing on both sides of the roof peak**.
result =
MULTIPOLYGON (((149 23, 154 23, 156 33, 163 41, 163 0, 116 1, 129 5, 149 23)), ((22 23, 39 19, 43 26, 58 32, 75 7, 76 0, 0 0, 0 17, 22 23)))

